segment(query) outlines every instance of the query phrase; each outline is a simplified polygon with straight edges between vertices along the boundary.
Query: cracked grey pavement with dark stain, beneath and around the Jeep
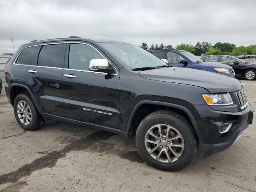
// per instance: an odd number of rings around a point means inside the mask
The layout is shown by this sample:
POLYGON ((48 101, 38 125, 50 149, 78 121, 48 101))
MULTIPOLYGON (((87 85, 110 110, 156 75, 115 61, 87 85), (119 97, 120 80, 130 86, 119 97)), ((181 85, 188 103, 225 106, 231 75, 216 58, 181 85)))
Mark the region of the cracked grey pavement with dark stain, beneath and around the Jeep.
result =
MULTIPOLYGON (((256 109, 256 81, 241 80, 256 109)), ((51 120, 24 131, 0 94, 0 192, 256 192, 256 115, 230 149, 179 172, 148 166, 135 139, 51 120)))

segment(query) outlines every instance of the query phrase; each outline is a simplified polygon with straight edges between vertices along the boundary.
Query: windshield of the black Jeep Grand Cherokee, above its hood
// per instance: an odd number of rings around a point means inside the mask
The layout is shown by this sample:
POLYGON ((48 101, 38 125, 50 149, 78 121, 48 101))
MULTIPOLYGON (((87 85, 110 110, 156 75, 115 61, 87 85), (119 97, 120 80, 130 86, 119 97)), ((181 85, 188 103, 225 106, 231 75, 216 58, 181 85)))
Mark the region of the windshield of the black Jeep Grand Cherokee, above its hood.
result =
POLYGON ((156 67, 166 65, 165 62, 140 48, 139 46, 126 43, 100 43, 110 53, 112 53, 120 62, 131 69, 141 67, 156 67))

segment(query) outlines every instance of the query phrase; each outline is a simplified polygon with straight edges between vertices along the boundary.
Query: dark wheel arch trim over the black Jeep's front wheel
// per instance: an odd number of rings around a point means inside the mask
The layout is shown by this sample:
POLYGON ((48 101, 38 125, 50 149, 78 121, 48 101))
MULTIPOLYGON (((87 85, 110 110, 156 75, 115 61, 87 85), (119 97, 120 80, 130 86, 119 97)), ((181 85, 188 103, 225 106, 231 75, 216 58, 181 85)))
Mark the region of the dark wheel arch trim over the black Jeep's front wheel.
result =
POLYGON ((162 106, 162 107, 168 107, 168 108, 173 108, 173 109, 176 109, 184 114, 186 114, 187 118, 190 120, 190 122, 192 123, 192 126, 196 132, 196 135, 198 137, 198 140, 201 142, 201 143, 204 143, 204 140, 202 138, 202 135, 200 133, 200 130, 196 124, 196 120, 194 119, 194 117, 192 116, 191 112, 184 106, 181 106, 181 105, 178 105, 178 104, 172 104, 172 103, 166 103, 166 102, 159 102, 159 101, 150 101, 150 100, 144 100, 144 101, 140 101, 138 102, 131 114, 130 114, 130 117, 128 119, 128 122, 127 122, 127 126, 126 126, 126 132, 128 133, 131 133, 132 132, 132 122, 134 121, 135 119, 135 114, 136 112, 139 110, 140 106, 144 105, 144 104, 152 104, 152 105, 157 105, 157 106, 162 106))

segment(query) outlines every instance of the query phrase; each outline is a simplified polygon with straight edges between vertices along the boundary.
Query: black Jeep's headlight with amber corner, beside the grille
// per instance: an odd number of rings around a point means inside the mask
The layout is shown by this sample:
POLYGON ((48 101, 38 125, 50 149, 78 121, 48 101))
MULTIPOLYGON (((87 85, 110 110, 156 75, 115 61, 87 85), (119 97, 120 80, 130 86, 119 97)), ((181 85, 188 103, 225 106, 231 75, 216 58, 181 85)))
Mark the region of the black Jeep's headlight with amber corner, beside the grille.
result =
POLYGON ((225 94, 202 94, 208 105, 232 105, 233 101, 229 93, 225 94))

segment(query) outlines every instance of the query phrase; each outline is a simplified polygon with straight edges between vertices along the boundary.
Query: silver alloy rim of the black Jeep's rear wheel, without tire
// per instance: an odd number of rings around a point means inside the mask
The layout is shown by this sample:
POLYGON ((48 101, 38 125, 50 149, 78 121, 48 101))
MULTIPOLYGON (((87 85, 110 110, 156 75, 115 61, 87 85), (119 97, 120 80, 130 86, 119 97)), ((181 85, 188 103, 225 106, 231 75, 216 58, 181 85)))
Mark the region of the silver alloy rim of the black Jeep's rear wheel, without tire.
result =
POLYGON ((28 106, 27 102, 19 101, 17 105, 17 114, 20 122, 24 125, 29 125, 32 120, 31 109, 28 106))

